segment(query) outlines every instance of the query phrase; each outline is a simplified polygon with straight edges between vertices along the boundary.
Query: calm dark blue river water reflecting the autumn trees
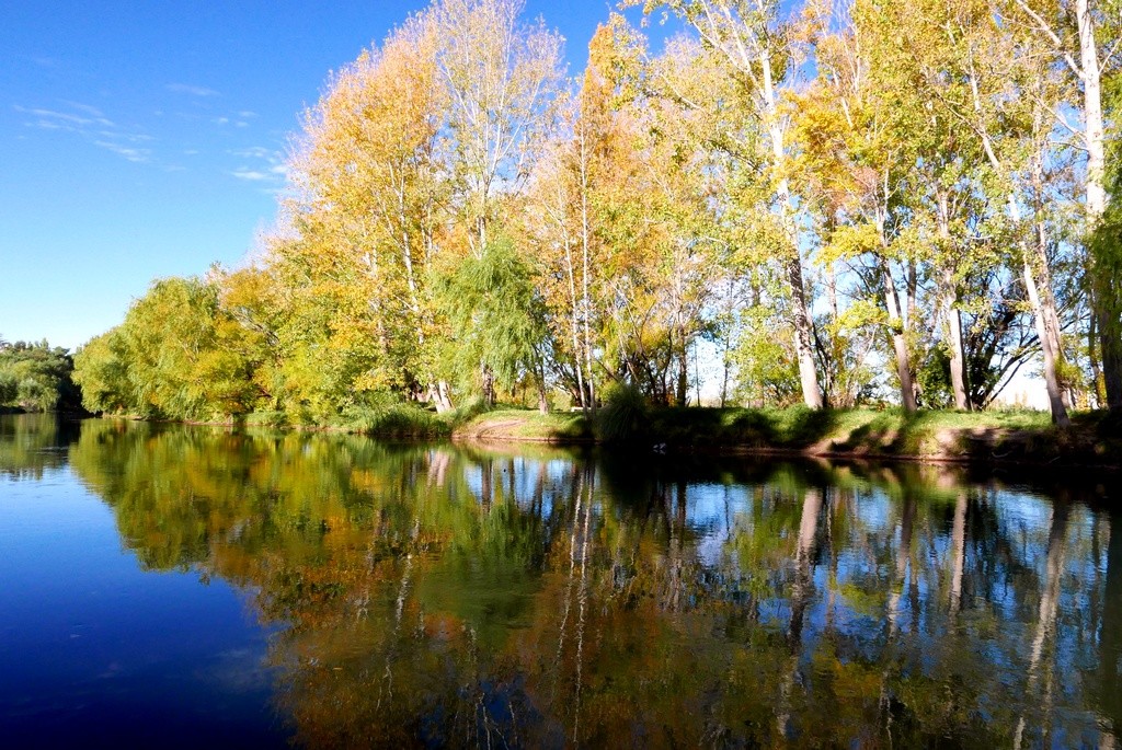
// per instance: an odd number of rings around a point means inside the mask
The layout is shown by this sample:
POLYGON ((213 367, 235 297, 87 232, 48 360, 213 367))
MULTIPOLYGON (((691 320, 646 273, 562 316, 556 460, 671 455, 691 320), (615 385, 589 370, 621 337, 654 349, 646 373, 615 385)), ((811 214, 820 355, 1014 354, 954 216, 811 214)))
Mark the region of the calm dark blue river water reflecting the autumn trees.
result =
POLYGON ((0 417, 0 743, 1109 744, 1112 499, 0 417))

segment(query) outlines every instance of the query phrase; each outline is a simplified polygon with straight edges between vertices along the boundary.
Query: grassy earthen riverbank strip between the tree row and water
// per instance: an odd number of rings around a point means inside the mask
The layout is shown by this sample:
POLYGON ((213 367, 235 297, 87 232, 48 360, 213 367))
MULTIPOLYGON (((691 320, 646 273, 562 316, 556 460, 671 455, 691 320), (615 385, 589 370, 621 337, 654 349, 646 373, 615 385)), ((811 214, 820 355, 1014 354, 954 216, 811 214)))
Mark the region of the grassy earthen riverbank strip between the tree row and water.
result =
POLYGON ((278 423, 272 415, 182 424, 456 443, 603 445, 647 454, 1122 469, 1122 420, 1105 411, 1077 414, 1070 427, 1060 428, 1038 411, 652 408, 635 415, 626 437, 619 439, 604 439, 596 420, 580 411, 499 408, 436 415, 405 407, 388 414, 392 418, 335 425, 278 423))

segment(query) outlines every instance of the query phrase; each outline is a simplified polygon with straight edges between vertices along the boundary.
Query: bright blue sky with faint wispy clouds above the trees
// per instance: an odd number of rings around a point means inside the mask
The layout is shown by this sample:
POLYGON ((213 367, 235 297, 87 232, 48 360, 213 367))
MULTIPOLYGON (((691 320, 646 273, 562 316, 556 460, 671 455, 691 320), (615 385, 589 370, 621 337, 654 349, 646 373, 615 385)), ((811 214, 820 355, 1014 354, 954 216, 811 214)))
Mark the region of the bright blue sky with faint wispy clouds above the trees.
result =
MULTIPOLYGON (((238 263, 329 71, 425 2, 0 3, 0 336, 75 348, 238 263)), ((527 0, 570 74, 613 3, 527 0)))

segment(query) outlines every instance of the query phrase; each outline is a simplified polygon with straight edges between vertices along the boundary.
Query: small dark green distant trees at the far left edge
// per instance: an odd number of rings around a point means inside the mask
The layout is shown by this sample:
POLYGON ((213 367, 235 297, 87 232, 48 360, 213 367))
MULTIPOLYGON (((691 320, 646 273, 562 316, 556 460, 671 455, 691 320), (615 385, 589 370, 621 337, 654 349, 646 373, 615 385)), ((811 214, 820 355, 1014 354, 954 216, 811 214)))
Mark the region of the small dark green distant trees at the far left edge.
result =
POLYGON ((73 411, 82 396, 72 380, 74 359, 62 346, 0 339, 0 410, 73 411))

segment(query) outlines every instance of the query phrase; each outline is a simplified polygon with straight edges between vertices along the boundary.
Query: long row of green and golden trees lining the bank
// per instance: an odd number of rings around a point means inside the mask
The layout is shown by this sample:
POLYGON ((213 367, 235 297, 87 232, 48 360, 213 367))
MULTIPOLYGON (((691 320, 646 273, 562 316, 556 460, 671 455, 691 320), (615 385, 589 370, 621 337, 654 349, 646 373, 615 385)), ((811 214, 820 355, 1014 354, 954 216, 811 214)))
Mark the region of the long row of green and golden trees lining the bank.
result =
MULTIPOLYGON (((638 4, 637 2, 634 4, 638 4)), ((1122 409, 1122 16, 665 0, 587 67, 438 0, 334 73, 251 266, 166 279, 86 406, 324 422, 396 401, 1122 409), (1112 198, 1113 193, 1113 198, 1112 198), (1041 390, 1045 390, 1041 387, 1041 390)))

